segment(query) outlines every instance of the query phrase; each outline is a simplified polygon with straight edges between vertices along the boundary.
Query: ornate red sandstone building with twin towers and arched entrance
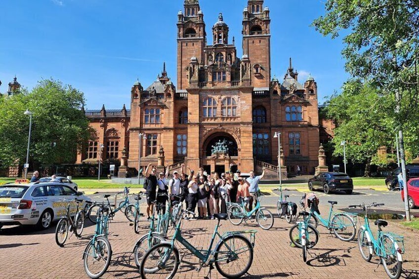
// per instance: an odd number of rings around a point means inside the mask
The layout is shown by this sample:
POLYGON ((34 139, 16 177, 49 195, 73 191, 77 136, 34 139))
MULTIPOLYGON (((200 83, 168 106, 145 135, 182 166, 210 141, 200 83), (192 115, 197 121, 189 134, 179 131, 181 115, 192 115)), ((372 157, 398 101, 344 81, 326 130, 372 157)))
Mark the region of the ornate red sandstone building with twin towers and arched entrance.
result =
POLYGON ((283 80, 271 77, 271 20, 263 2, 249 0, 243 10, 239 58, 222 14, 208 35, 199 1, 185 0, 177 17, 176 87, 164 66, 148 87, 134 83, 129 110, 124 105, 85 111, 95 140, 77 163, 96 163, 99 157, 118 161, 125 148, 127 166, 136 173, 139 151, 142 167, 157 165, 163 147, 170 169, 182 162, 219 173, 230 164, 242 172, 266 166, 274 177, 278 139, 273 136, 281 132, 282 166, 288 173, 297 165, 301 173, 314 173, 320 145, 317 84, 312 77, 298 81, 291 59, 283 80), (222 152, 216 152, 217 144, 222 152))

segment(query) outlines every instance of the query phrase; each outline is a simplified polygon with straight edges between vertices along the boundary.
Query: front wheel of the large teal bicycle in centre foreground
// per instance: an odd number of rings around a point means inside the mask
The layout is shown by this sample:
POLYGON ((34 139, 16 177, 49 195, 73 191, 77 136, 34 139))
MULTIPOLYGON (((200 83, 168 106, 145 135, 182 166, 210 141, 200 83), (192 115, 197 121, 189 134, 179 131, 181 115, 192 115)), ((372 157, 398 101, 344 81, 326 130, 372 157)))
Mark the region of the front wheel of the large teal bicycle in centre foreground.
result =
POLYGON ((140 265, 142 279, 171 279, 179 267, 179 251, 170 243, 160 243, 146 252, 140 265))

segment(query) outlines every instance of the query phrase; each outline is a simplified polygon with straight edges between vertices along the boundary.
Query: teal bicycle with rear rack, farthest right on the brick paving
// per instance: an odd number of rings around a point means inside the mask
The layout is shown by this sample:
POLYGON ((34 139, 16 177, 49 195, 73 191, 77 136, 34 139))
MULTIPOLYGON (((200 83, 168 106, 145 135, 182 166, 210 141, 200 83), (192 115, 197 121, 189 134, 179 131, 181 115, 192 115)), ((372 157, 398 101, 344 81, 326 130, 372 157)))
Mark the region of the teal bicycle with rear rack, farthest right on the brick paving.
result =
POLYGON ((388 223, 384 220, 378 219, 374 224, 378 227, 376 237, 370 228, 370 222, 368 219, 368 210, 371 207, 384 205, 384 203, 373 202, 371 204, 359 204, 350 205, 349 208, 361 208, 364 212, 365 225, 361 227, 358 232, 358 247, 361 252, 361 256, 367 262, 371 261, 371 258, 378 256, 384 267, 385 272, 391 279, 398 279, 402 273, 402 254, 405 252, 404 249, 404 238, 396 234, 389 232, 383 233, 381 227, 386 227, 388 223))

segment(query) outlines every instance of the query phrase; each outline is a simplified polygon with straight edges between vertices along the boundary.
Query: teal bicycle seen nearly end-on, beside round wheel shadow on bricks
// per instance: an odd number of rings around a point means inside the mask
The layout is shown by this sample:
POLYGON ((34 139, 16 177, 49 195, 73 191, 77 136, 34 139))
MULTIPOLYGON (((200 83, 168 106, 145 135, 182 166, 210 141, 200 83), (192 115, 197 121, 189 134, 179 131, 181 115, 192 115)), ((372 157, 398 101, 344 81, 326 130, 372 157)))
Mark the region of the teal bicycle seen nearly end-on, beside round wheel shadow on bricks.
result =
POLYGON ((316 228, 308 223, 310 213, 300 211, 298 217, 301 221, 293 225, 290 229, 291 242, 298 248, 302 248, 303 261, 307 261, 308 249, 314 247, 319 241, 319 232, 316 228))

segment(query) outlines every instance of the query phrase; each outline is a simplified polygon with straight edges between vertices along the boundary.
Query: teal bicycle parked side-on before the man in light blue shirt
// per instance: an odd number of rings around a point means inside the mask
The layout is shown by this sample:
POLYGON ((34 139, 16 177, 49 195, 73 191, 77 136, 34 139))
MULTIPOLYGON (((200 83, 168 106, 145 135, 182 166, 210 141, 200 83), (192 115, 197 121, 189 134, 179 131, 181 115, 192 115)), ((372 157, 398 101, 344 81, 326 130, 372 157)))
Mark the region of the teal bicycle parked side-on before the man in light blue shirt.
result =
POLYGON ((274 225, 274 217, 268 209, 260 206, 259 199, 256 200, 256 206, 247 211, 245 202, 242 199, 241 203, 230 203, 227 209, 228 220, 233 225, 240 225, 243 221, 251 220, 251 215, 256 213, 256 222, 263 230, 269 230, 274 225))

